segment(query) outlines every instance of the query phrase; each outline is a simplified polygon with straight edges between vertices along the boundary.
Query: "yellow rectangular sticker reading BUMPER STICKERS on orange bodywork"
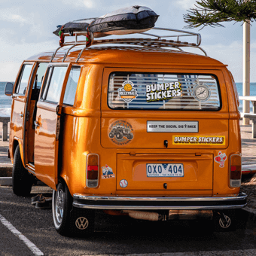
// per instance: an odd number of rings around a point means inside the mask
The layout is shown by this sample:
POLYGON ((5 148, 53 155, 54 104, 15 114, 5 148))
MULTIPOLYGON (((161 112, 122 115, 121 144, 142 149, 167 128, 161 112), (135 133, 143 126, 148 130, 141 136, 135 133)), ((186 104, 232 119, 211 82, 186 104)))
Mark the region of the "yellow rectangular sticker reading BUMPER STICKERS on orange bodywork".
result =
POLYGON ((225 136, 172 136, 173 145, 225 145, 225 136))

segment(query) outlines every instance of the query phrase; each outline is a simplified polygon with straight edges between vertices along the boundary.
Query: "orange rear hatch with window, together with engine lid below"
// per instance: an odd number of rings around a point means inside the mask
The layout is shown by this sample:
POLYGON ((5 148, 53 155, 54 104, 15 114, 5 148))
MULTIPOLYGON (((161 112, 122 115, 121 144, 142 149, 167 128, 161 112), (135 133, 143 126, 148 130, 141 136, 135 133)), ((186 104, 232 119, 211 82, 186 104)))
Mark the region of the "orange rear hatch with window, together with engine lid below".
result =
POLYGON ((105 69, 101 144, 117 149, 117 190, 212 190, 213 151, 229 143, 220 88, 218 70, 105 69))

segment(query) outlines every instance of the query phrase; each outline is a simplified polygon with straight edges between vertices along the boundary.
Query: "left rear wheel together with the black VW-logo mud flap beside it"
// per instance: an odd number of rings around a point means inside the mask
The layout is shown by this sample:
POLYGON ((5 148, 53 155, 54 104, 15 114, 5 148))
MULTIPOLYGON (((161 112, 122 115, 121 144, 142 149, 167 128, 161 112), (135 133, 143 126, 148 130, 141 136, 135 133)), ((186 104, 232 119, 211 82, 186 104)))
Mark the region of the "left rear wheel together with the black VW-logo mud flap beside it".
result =
POLYGON ((94 211, 72 206, 72 196, 64 181, 53 190, 53 223, 62 236, 87 236, 93 232, 94 211))

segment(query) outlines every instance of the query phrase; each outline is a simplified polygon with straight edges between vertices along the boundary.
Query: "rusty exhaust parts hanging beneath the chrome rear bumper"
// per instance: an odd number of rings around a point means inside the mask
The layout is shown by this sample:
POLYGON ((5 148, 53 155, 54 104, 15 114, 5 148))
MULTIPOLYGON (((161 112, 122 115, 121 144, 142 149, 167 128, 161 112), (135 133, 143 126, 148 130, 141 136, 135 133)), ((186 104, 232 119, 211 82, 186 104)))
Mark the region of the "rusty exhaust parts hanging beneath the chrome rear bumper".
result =
POLYGON ((142 212, 123 210, 131 218, 145 221, 167 221, 167 220, 196 220, 210 219, 212 220, 213 212, 211 210, 169 210, 169 215, 160 215, 157 212, 142 212))

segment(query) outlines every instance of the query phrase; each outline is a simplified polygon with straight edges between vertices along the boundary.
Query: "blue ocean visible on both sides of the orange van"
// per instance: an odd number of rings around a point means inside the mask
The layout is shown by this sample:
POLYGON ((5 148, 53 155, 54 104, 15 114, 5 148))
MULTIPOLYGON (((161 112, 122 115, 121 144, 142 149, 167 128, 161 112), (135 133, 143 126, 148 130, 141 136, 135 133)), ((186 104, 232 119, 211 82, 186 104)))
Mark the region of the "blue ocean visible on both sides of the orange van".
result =
MULTIPOLYGON (((5 95, 5 84, 6 82, 0 82, 0 117, 11 116, 11 97, 5 95)), ((236 88, 239 96, 242 96, 242 83, 236 83, 236 88)), ((250 95, 256 96, 256 83, 250 84, 250 95)), ((239 111, 242 111, 242 100, 240 101, 239 111)), ((250 105, 250 111, 252 112, 252 105, 250 105)))

